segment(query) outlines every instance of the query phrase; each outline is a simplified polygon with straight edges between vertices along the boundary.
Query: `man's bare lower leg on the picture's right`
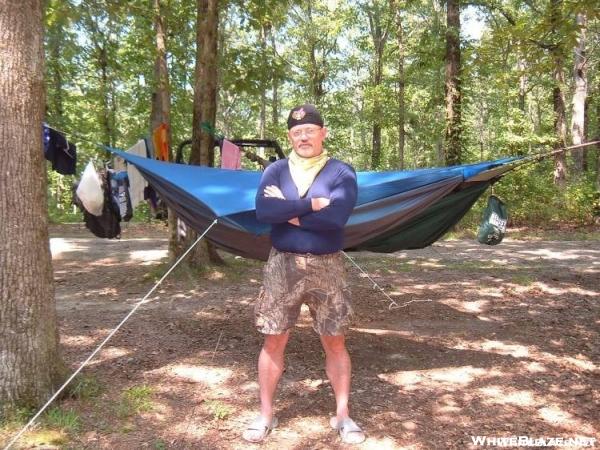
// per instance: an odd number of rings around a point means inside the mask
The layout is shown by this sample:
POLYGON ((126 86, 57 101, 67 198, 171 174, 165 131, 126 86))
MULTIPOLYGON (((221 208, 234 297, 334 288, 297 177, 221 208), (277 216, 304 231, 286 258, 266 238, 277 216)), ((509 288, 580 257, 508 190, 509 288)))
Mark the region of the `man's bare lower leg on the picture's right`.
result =
POLYGON ((350 377, 352 373, 350 355, 346 350, 346 338, 341 336, 321 336, 325 350, 325 371, 335 394, 338 423, 349 416, 350 377))

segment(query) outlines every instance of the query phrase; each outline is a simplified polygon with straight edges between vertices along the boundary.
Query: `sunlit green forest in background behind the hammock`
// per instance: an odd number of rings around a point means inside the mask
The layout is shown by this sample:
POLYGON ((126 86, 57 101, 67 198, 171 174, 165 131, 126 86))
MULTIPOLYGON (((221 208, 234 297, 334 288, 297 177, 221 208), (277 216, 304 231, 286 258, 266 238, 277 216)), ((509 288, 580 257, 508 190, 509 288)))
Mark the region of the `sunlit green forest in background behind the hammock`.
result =
MULTIPOLYGON (((307 101, 323 112, 329 152, 357 170, 529 155, 600 136, 592 0, 49 0, 46 120, 77 143, 79 172, 108 158, 93 143, 126 149, 150 134, 157 17, 172 147, 192 138, 196 22, 209 3, 218 8, 214 127, 227 138, 276 139, 287 152, 287 113, 307 101), (466 13, 481 37, 464 28, 466 13)), ((530 164, 495 193, 513 224, 589 224, 600 215, 599 160, 588 147, 530 164)), ((77 177, 48 177, 51 217, 72 219, 77 177)))

